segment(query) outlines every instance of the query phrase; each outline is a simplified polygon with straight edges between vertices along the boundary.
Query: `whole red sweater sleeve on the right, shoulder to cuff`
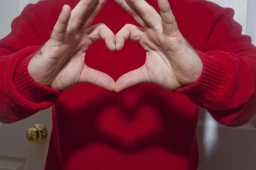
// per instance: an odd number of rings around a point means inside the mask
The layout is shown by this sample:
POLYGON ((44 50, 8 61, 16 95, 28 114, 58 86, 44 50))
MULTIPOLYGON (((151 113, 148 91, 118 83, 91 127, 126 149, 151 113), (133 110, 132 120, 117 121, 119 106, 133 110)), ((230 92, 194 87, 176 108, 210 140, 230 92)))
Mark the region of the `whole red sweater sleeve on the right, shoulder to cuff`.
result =
POLYGON ((196 51, 204 65, 201 77, 176 93, 189 96, 222 125, 236 127, 256 113, 256 47, 241 34, 233 9, 215 7, 204 51, 196 51))

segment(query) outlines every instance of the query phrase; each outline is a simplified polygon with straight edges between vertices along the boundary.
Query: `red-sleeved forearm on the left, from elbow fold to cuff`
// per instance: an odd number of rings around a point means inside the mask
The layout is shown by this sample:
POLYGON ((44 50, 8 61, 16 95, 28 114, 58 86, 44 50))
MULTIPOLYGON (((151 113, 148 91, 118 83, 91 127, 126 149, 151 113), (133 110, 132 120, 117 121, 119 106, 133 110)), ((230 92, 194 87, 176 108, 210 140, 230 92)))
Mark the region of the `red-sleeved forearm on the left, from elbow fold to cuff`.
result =
POLYGON ((27 71, 29 59, 38 47, 28 47, 0 56, 0 122, 25 119, 52 106, 60 92, 35 82, 27 71))

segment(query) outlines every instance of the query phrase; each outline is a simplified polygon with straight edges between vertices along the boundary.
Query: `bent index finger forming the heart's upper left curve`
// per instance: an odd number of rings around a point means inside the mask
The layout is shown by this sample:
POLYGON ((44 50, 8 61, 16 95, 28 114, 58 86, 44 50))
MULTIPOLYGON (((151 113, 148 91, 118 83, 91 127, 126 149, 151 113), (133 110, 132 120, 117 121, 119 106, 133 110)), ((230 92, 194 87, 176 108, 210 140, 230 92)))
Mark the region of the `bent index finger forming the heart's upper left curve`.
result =
POLYGON ((99 23, 88 28, 86 34, 92 42, 102 39, 109 50, 114 51, 116 49, 115 34, 105 24, 99 23))

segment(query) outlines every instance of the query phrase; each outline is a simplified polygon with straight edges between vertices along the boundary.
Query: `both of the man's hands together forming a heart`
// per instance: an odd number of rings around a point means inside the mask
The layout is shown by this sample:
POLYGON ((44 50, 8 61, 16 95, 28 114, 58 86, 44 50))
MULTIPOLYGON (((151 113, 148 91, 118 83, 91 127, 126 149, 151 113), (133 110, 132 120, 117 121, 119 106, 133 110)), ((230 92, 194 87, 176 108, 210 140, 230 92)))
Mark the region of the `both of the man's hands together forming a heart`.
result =
POLYGON ((142 82, 174 91, 200 77, 202 61, 181 35, 168 0, 158 0, 161 15, 145 0, 115 1, 143 28, 127 24, 116 35, 104 24, 87 29, 107 0, 81 0, 72 11, 65 5, 51 39, 29 62, 32 78, 61 91, 89 82, 119 92, 142 82), (116 82, 109 75, 89 68, 82 61, 90 45, 99 39, 105 40, 111 51, 121 50, 128 39, 140 42, 146 51, 145 64, 116 82))

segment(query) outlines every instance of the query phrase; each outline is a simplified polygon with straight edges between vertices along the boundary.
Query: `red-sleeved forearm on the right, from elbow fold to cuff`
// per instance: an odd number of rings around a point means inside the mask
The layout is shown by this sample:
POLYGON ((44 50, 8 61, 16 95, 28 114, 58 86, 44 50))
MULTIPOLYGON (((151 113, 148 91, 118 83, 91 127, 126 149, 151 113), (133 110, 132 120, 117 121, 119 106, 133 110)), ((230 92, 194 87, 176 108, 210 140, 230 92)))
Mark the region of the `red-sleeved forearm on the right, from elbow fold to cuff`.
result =
POLYGON ((184 88, 183 93, 198 106, 206 108, 222 125, 240 126, 256 113, 256 57, 250 53, 198 51, 204 63, 201 77, 184 88))

